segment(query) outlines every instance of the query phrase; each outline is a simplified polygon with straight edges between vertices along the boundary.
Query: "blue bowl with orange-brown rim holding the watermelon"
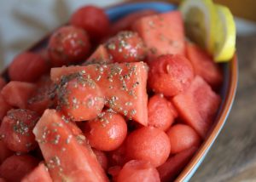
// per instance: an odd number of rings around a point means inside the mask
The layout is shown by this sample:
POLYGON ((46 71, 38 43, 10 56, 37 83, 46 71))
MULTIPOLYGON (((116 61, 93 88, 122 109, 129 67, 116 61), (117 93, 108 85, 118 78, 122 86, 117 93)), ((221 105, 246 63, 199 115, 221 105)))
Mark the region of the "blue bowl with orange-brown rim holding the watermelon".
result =
MULTIPOLYGON (((177 6, 172 3, 159 3, 159 2, 150 2, 150 3, 121 3, 116 6, 106 8, 106 13, 108 14, 111 21, 118 20, 119 18, 142 9, 154 9, 160 13, 166 11, 172 11, 177 9, 177 6)), ((49 34, 50 35, 50 34, 49 34)), ((48 42, 49 35, 44 37, 38 43, 35 43, 32 48, 29 48, 30 51, 37 52, 41 48, 44 48, 48 42)), ((207 152, 210 151, 212 144, 215 139, 218 137, 221 129, 224 126, 224 123, 229 116, 230 109, 232 107, 237 86, 237 77, 238 77, 238 65, 237 65, 237 56, 234 55, 233 59, 230 62, 221 64, 221 67, 224 72, 224 83, 223 87, 220 90, 220 95, 222 97, 222 103, 218 109, 218 114, 215 118, 215 121, 207 134, 207 138, 202 143, 199 150, 195 153, 195 156, 190 160, 188 165, 183 168, 183 171, 177 176, 177 181, 188 181, 196 169, 201 165, 201 162, 204 160, 207 152)), ((6 79, 8 79, 7 70, 3 71, 2 74, 6 79)))

